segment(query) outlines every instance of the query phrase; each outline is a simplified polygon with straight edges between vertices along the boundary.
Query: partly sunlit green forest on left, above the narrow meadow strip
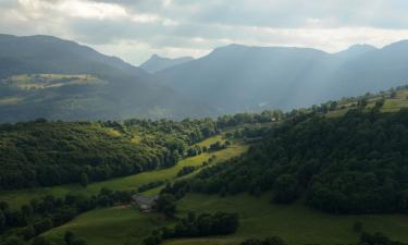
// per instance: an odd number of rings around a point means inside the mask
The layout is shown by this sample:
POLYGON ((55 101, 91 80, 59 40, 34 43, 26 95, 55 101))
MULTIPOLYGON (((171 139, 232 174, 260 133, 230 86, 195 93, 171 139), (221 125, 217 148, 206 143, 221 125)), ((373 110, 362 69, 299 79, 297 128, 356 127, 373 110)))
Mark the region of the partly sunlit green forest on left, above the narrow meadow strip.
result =
POLYGON ((0 189, 86 185, 176 164, 185 156, 218 150, 196 143, 223 128, 271 122, 281 112, 242 113, 218 120, 182 122, 127 120, 123 122, 32 122, 0 125, 0 189))

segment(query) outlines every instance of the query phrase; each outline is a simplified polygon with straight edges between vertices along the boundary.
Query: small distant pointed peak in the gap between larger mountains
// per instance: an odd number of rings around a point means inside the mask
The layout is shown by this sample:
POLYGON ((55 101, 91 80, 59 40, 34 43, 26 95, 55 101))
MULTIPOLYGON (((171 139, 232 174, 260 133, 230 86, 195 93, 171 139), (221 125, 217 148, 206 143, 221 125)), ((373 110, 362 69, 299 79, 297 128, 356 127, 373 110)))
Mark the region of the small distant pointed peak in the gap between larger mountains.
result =
POLYGON ((159 57, 158 54, 153 54, 147 60, 145 63, 140 65, 140 68, 147 72, 156 73, 169 68, 172 68, 177 64, 183 64, 188 61, 193 61, 191 57, 181 57, 176 59, 163 58, 159 57))

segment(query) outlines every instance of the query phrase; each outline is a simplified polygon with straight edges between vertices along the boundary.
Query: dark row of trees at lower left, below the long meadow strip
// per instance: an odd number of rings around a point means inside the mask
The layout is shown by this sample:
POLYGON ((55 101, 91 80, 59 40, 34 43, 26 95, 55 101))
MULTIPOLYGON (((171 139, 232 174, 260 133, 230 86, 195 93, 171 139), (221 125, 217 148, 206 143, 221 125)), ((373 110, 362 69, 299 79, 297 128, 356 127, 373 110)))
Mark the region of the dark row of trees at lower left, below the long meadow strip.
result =
POLYGON ((33 237, 60 226, 77 215, 97 207, 110 207, 115 204, 128 204, 131 192, 113 192, 102 188, 98 195, 84 196, 67 194, 64 197, 45 196, 33 199, 28 205, 14 210, 4 201, 0 203, 0 233, 29 241, 33 237))

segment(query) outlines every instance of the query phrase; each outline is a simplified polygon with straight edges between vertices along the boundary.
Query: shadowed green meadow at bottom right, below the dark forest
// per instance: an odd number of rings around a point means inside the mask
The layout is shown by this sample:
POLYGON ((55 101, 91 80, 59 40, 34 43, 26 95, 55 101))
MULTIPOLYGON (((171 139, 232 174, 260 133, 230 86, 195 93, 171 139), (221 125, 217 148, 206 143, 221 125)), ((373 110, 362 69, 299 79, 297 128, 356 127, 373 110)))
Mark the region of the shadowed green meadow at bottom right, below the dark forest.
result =
POLYGON ((238 244, 250 237, 279 235, 289 244, 347 244, 358 241, 353 224, 361 221, 366 231, 381 231, 394 240, 408 242, 408 216, 370 215, 335 216, 309 209, 304 204, 272 205, 270 196, 257 198, 246 194, 221 198, 189 194, 178 204, 180 216, 196 212, 228 211, 239 213, 240 226, 228 236, 173 240, 165 245, 238 244))

